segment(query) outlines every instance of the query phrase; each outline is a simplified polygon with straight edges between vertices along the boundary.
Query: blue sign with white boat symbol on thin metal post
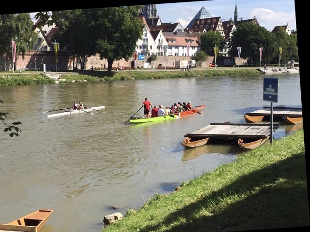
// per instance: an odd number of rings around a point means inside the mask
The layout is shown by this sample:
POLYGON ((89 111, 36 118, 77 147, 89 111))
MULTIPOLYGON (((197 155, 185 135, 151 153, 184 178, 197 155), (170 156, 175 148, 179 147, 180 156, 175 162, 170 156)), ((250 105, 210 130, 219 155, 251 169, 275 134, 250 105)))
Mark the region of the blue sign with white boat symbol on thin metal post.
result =
POLYGON ((263 101, 270 102, 270 144, 272 144, 273 102, 278 102, 278 78, 263 78, 263 101))

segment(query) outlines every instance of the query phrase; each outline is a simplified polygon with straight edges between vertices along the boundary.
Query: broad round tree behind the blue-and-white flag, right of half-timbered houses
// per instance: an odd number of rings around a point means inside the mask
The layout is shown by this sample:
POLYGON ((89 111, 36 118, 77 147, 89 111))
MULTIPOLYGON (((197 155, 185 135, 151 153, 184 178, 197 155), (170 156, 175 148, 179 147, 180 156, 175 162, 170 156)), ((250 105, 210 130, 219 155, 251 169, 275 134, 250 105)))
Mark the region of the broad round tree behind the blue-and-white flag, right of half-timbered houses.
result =
POLYGON ((248 59, 249 64, 260 63, 260 47, 263 47, 262 60, 265 63, 269 63, 279 51, 275 35, 250 22, 241 22, 233 31, 230 42, 232 57, 238 57, 237 47, 239 46, 242 47, 240 57, 248 59))

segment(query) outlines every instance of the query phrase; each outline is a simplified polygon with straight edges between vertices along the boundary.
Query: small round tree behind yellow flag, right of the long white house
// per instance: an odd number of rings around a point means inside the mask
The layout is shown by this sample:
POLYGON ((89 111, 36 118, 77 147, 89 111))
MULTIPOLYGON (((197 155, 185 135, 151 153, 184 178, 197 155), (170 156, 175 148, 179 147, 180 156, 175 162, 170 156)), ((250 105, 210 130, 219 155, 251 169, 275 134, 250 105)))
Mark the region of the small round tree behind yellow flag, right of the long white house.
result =
POLYGON ((225 38, 218 32, 209 30, 200 37, 200 50, 206 52, 209 56, 214 56, 214 47, 222 50, 225 46, 225 38))

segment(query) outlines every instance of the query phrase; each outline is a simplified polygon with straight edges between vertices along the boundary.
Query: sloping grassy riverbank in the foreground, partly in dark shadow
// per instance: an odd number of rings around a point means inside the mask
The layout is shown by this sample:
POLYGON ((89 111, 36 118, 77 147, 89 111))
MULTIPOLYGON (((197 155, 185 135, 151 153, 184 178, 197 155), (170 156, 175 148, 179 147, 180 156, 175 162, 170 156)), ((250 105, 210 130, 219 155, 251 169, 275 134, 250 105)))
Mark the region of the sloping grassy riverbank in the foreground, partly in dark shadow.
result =
POLYGON ((155 194, 104 232, 224 232, 309 227, 303 130, 155 194))

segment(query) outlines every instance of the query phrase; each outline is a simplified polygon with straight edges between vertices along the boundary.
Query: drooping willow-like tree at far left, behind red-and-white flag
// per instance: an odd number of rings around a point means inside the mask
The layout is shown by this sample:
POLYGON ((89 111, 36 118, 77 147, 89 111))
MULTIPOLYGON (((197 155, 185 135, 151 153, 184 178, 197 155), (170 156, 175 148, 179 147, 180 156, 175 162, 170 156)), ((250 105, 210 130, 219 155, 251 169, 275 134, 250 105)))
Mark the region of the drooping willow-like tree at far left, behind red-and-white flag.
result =
MULTIPOLYGON (((33 49, 37 35, 32 29, 29 13, 0 15, 0 55, 12 60, 12 39, 16 43, 16 56, 24 58, 33 49)), ((10 67, 4 67, 9 70, 10 67)))

